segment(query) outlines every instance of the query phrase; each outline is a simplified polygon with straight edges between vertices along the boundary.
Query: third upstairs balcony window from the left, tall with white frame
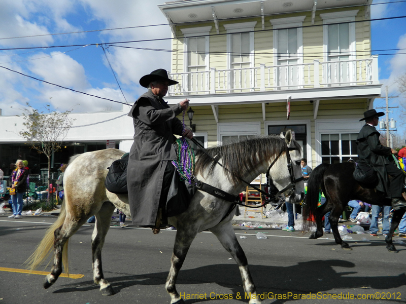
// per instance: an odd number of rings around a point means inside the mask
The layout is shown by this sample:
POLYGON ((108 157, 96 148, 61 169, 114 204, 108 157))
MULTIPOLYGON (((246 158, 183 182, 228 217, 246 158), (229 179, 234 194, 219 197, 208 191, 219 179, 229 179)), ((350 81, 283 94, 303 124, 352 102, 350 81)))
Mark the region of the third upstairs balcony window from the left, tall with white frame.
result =
POLYGON ((305 16, 270 20, 274 31, 274 62, 278 67, 274 79, 282 89, 294 89, 302 84, 303 62, 302 24, 305 16))

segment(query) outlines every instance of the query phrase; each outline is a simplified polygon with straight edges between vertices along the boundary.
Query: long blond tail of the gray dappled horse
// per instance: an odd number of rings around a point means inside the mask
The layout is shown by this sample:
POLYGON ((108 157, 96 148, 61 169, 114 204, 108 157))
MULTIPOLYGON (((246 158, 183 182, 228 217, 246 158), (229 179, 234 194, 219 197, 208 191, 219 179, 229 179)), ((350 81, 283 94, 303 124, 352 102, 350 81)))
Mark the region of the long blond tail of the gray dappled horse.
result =
MULTIPOLYGON (((44 238, 42 239, 41 243, 37 246, 37 249, 31 254, 31 256, 24 262, 27 264, 27 268, 30 271, 35 270, 44 260, 49 259, 51 253, 53 252, 54 248, 54 232, 58 229, 63 222, 65 221, 66 217, 66 208, 65 208, 65 201, 62 203, 62 207, 60 210, 60 214, 56 221, 48 228, 44 238)), ((68 264, 67 264, 67 243, 63 246, 63 254, 62 254, 62 263, 66 273, 69 273, 68 264)), ((48 264, 50 263, 51 259, 49 259, 48 264)), ((47 266, 48 266, 47 264, 47 266)))

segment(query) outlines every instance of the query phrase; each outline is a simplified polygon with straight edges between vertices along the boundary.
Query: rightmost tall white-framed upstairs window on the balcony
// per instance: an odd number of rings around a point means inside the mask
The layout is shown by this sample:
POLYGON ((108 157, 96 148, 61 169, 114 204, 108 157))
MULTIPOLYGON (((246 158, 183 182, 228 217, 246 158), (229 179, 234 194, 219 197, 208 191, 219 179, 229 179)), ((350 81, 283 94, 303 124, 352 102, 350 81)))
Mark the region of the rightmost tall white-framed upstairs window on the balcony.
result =
POLYGON ((355 16, 358 10, 320 14, 323 19, 323 83, 348 85, 355 59, 355 16), (352 23, 351 23, 352 22, 352 23), (341 62, 340 62, 341 61, 341 62))

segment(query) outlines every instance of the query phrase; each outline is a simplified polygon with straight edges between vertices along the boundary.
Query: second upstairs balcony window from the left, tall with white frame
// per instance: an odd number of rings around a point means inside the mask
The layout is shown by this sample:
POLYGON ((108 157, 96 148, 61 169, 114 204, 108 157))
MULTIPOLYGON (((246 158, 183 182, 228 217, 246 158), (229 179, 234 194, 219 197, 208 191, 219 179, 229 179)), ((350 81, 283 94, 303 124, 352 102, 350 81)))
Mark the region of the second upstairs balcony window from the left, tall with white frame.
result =
POLYGON ((227 30, 227 88, 230 90, 255 87, 254 28, 257 22, 225 24, 227 30))

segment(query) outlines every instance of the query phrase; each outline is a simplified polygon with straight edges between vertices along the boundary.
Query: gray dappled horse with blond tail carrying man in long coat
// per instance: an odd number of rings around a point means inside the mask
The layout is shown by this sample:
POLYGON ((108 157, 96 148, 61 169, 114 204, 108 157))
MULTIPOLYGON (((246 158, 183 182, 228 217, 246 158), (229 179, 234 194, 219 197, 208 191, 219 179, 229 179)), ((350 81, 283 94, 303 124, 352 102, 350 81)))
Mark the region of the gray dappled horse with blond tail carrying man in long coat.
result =
MULTIPOLYGON (((200 181, 237 196, 246 187, 246 184, 237 176, 251 181, 259 174, 266 173, 270 164, 276 160, 269 169, 269 175, 279 190, 288 186, 286 190, 288 192, 292 181, 286 153, 289 153, 291 158, 293 176, 298 179, 301 177, 300 152, 300 146, 293 140, 289 130, 285 138, 283 136, 256 137, 209 148, 205 153, 197 151, 194 174, 200 181), (288 147, 294 149, 288 151, 288 147), (227 170, 217 165, 213 158, 222 163, 227 170)), ((65 272, 69 271, 66 250, 68 239, 90 216, 95 215, 96 223, 92 234, 93 280, 100 285, 100 291, 104 295, 114 294, 112 286, 104 278, 101 269, 101 249, 115 208, 123 210, 127 215, 130 215, 130 211, 128 196, 110 193, 106 190, 104 181, 107 168, 123 154, 123 151, 117 149, 106 149, 84 153, 71 159, 63 179, 65 199, 61 213, 55 223, 49 227, 36 251, 27 260, 29 268, 33 270, 47 258, 52 249, 54 250, 53 267, 44 280, 45 288, 55 283, 62 272, 62 263, 65 272)), ((303 181, 296 182, 294 193, 296 203, 303 199, 303 191, 303 181)), ((231 219, 235 211, 223 219, 231 204, 208 193, 197 191, 187 211, 168 218, 168 222, 177 228, 171 258, 172 265, 166 280, 166 290, 171 295, 171 304, 183 303, 183 299, 176 290, 176 278, 193 239, 198 232, 204 230, 210 230, 216 235, 239 265, 244 290, 252 295, 249 303, 261 302, 256 299, 256 289, 248 270, 247 258, 232 229, 231 219)))

